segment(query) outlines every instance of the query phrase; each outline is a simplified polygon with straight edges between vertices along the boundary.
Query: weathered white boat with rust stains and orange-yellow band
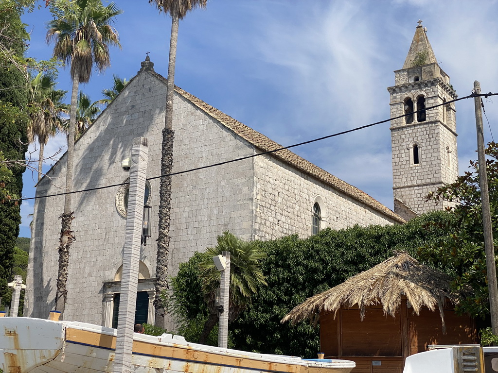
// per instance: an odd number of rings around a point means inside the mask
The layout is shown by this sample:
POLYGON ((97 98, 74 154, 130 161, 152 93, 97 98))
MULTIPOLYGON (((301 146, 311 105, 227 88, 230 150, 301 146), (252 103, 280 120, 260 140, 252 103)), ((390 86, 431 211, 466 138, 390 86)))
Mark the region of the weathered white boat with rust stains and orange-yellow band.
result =
MULTIPOLYGON (((112 373, 116 330, 78 322, 0 318, 3 373, 112 373)), ((187 343, 170 334, 134 334, 135 373, 349 373, 347 360, 307 361, 187 343)))

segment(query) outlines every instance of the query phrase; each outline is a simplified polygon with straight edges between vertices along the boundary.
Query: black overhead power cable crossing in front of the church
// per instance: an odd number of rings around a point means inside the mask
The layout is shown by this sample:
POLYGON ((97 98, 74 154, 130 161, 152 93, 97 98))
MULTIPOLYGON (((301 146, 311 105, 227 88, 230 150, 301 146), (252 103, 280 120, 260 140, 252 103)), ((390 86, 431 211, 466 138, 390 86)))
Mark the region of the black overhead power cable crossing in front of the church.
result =
MULTIPOLYGON (((474 98, 474 97, 485 97, 485 98, 488 98, 489 96, 496 96, 496 95, 498 95, 498 93, 491 93, 491 92, 490 93, 480 93, 480 94, 472 93, 472 94, 469 94, 468 96, 455 98, 453 100, 446 101, 446 102, 443 102, 443 103, 439 103, 437 105, 429 106, 429 107, 426 107, 424 109, 420 109, 420 110, 417 110, 417 111, 412 111, 410 113, 403 114, 403 115, 398 115, 398 116, 395 116, 393 118, 380 120, 378 122, 366 124, 364 126, 360 126, 360 127, 348 129, 346 131, 337 132, 337 133, 334 133, 332 135, 327 135, 327 136, 319 137, 319 138, 316 138, 316 139, 313 139, 313 140, 308 140, 308 141, 300 142, 298 144, 284 146, 284 147, 278 148, 278 149, 268 150, 268 151, 262 152, 262 153, 251 154, 249 156, 245 156, 245 157, 241 157, 241 158, 236 158, 236 159, 232 159, 232 160, 229 160, 229 161, 214 163, 214 164, 211 164, 211 165, 196 167, 196 168, 188 169, 188 170, 184 170, 184 171, 173 172, 171 174, 155 176, 155 177, 152 177, 152 178, 148 178, 146 180, 155 180, 155 179, 160 179, 162 177, 167 177, 167 176, 187 174, 189 172, 204 170, 204 169, 208 169, 208 168, 211 168, 211 167, 222 166, 222 165, 226 165, 228 163, 244 161, 246 159, 250 159, 250 158, 254 158, 254 157, 259 157, 259 156, 263 156, 263 155, 266 155, 266 154, 271 154, 271 153, 279 152, 279 151, 286 150, 286 149, 295 148, 297 146, 306 145, 306 144, 310 144, 310 143, 313 143, 313 142, 317 142, 317 141, 329 139, 331 137, 345 135, 345 134, 350 133, 350 132, 355 132, 355 131, 359 131, 359 130, 364 129, 364 128, 373 127, 373 126, 375 126, 377 124, 382 124, 382 123, 389 122, 389 121, 394 120, 394 119, 403 118, 405 116, 413 115, 415 113, 422 112, 422 111, 427 111, 427 110, 430 110, 430 109, 433 109, 433 108, 436 108, 436 107, 439 107, 439 106, 448 105, 448 104, 450 104, 452 102, 460 101, 460 100, 463 100, 463 99, 474 98)), ((81 189, 81 190, 74 190, 74 191, 70 191, 70 192, 61 192, 61 193, 40 195, 40 196, 28 197, 28 198, 18 198, 17 200, 26 201, 26 200, 30 200, 30 199, 40 199, 40 198, 56 197, 56 196, 65 195, 65 194, 75 194, 75 193, 82 193, 82 192, 85 192, 85 191, 100 190, 100 189, 106 189, 106 188, 112 188, 112 187, 121 187, 122 185, 126 185, 126 184, 129 184, 129 183, 112 184, 112 185, 107 185, 107 186, 103 186, 103 187, 93 187, 93 188, 88 188, 88 189, 81 189)))

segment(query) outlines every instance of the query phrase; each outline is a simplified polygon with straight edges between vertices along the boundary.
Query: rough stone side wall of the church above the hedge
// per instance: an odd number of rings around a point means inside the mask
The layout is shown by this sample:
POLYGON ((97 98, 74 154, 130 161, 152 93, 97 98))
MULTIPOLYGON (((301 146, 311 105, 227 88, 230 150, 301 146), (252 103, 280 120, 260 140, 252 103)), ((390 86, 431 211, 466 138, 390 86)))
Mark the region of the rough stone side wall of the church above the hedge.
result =
POLYGON ((315 202, 321 208, 321 228, 393 223, 385 215, 274 157, 256 157, 254 164, 254 239, 295 233, 310 236, 315 202))

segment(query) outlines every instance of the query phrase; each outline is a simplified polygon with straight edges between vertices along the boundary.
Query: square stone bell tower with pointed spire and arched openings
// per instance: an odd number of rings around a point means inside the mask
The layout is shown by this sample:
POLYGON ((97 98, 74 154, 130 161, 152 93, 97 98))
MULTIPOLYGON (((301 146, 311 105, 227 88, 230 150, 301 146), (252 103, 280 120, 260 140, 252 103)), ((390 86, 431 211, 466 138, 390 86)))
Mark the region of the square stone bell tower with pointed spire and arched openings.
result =
POLYGON ((409 220, 446 205, 424 197, 458 177, 454 103, 450 77, 439 67, 422 21, 415 29, 403 68, 394 71, 390 94, 394 212, 409 220), (427 109, 426 109, 427 108, 427 109))

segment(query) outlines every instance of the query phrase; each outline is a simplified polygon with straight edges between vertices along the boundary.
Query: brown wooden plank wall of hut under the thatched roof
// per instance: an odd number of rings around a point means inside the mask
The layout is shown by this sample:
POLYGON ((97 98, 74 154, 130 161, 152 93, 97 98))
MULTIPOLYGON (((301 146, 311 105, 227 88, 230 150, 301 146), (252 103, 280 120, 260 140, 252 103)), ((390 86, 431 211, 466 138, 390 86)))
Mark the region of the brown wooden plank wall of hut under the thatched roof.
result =
POLYGON ((352 373, 401 373, 404 359, 426 351, 427 345, 477 342, 474 320, 445 310, 447 333, 442 333, 439 311, 427 308, 413 314, 406 302, 396 317, 384 316, 380 305, 367 307, 360 319, 358 308, 320 314, 321 351, 326 358, 356 362, 352 373))

